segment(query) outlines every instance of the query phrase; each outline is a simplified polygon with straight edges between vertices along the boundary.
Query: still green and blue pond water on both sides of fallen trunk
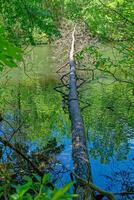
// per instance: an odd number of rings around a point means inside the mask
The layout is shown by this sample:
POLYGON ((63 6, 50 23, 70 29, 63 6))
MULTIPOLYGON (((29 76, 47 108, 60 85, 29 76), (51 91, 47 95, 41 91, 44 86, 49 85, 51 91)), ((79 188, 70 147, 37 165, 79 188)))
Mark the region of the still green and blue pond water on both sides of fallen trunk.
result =
MULTIPOLYGON (((34 48, 26 58, 26 66, 1 77, 2 84, 8 79, 1 88, 1 111, 10 124, 1 123, 0 130, 8 137, 13 128, 22 124, 16 140, 27 143, 29 154, 52 138, 56 138, 58 145, 63 144, 63 150, 56 155, 60 164, 55 166, 57 170, 63 166, 66 169, 58 173, 57 184, 61 186, 70 181, 73 161, 67 109, 62 109, 61 95, 53 89, 58 77, 52 51, 47 46, 34 48)), ((81 94, 81 98, 92 104, 82 114, 93 182, 114 193, 134 191, 133 111, 130 108, 128 111, 127 96, 120 97, 125 89, 124 85, 105 89, 93 83, 81 94)), ((116 199, 134 199, 134 195, 116 194, 116 199)))

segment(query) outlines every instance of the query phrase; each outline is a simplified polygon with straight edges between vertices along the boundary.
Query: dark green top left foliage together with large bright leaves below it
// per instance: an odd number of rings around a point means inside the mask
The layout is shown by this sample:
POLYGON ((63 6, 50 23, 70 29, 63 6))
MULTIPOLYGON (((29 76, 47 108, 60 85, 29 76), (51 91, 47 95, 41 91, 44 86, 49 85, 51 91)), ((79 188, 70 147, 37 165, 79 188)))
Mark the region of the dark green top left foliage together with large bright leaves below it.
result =
MULTIPOLYGON (((52 2, 60 10, 60 2, 52 2)), ((42 0, 1 1, 0 4, 0 71, 4 66, 16 67, 22 59, 22 45, 36 42, 36 36, 42 34, 44 41, 60 35, 54 7, 42 0), (17 46, 17 47, 16 47, 17 46)))

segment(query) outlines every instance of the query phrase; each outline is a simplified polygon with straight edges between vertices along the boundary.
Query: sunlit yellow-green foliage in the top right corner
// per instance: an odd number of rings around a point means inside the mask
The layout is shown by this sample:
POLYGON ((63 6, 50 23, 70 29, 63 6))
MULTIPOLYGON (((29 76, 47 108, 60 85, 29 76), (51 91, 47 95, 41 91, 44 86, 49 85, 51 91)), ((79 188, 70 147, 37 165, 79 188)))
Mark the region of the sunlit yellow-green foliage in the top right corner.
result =
POLYGON ((78 23, 84 21, 93 36, 102 40, 132 40, 132 0, 68 0, 65 5, 67 17, 78 23))

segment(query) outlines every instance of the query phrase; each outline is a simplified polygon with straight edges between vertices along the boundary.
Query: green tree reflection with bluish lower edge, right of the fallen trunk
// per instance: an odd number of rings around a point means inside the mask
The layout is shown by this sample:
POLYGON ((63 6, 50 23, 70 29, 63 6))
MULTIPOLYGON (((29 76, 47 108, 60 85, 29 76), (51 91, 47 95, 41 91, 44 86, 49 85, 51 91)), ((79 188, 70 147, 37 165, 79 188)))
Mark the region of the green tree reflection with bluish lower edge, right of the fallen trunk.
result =
POLYGON ((133 111, 130 109, 132 88, 125 85, 90 84, 81 94, 90 106, 84 119, 89 127, 91 155, 106 163, 115 156, 125 159, 129 152, 129 139, 133 137, 133 111), (90 93, 89 93, 90 91, 90 93))

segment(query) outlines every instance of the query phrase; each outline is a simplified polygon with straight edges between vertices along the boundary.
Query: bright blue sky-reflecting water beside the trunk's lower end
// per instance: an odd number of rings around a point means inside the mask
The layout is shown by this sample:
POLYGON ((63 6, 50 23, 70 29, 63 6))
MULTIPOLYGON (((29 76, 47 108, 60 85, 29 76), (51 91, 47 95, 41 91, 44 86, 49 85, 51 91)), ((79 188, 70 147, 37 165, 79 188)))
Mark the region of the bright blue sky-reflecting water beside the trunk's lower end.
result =
MULTIPOLYGON (((60 155, 58 155, 58 159, 68 169, 72 170, 73 162, 71 157, 71 140, 65 138, 63 143, 65 145, 65 149, 60 155)), ((93 148, 93 143, 89 143, 88 145, 89 149, 91 146, 93 148)), ((131 145, 133 145, 133 139, 132 143, 129 143, 129 151, 126 159, 117 160, 117 158, 113 156, 109 158, 107 163, 104 164, 101 162, 99 157, 94 158, 93 156, 90 156, 93 182, 97 186, 104 190, 112 191, 113 193, 134 191, 134 152, 131 145)), ((62 177, 62 179, 64 181, 69 181, 70 177, 66 175, 62 177)), ((134 195, 122 196, 120 194, 116 194, 116 199, 134 199, 134 195)))

